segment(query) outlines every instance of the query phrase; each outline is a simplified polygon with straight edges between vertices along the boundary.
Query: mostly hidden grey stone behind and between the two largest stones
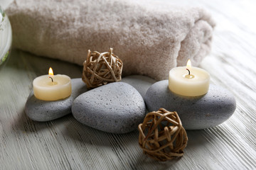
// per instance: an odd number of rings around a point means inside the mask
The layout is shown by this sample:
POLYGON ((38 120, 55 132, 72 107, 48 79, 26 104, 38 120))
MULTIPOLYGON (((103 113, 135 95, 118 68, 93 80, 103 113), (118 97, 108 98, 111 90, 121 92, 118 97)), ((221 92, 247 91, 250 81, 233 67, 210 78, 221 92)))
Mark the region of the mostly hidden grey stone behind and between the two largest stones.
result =
POLYGON ((154 79, 141 75, 124 77, 121 81, 137 89, 137 91, 139 91, 139 94, 142 95, 142 98, 145 97, 146 91, 149 89, 149 87, 156 82, 154 79))

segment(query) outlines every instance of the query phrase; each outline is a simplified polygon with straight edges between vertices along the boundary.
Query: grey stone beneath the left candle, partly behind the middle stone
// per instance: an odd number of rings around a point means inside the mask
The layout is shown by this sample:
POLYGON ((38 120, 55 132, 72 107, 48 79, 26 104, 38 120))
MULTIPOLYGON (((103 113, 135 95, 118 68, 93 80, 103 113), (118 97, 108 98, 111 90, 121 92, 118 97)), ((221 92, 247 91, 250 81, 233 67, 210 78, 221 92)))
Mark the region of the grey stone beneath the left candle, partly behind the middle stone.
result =
POLYGON ((74 99, 87 91, 82 79, 71 79, 72 94, 70 97, 60 101, 41 101, 33 95, 33 91, 26 101, 25 113, 32 120, 46 122, 61 118, 71 113, 71 105, 74 99))

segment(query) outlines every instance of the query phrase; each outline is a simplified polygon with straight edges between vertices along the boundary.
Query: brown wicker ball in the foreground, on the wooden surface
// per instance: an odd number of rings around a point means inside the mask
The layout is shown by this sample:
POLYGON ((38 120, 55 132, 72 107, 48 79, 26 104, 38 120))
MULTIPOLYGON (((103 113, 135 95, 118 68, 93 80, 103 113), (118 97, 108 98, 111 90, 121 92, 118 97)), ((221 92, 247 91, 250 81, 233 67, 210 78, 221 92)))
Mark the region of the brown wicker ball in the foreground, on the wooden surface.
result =
POLYGON ((160 108, 148 113, 138 128, 139 146, 144 154, 158 161, 183 156, 188 137, 176 112, 160 108))

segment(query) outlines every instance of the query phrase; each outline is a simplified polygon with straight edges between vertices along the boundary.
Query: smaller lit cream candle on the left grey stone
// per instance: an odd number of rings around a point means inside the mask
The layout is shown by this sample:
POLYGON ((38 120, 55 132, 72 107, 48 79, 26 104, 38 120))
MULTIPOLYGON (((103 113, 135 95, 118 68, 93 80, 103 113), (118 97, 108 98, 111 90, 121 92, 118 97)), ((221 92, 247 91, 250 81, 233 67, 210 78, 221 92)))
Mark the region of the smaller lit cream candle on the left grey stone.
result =
POLYGON ((50 68, 48 75, 33 80, 33 93, 36 98, 43 101, 67 98, 71 94, 70 77, 61 74, 53 75, 53 69, 50 68))

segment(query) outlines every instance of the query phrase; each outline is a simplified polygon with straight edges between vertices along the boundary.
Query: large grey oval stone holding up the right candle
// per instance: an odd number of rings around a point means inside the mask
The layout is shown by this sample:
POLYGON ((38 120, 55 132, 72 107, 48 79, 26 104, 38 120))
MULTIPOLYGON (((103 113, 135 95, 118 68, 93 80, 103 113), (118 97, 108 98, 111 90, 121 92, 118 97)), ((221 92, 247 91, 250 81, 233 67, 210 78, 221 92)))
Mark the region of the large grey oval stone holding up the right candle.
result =
POLYGON ((149 111, 176 111, 186 130, 210 128, 228 120, 235 111, 235 98, 226 89, 210 84, 204 96, 185 97, 172 93, 168 80, 158 81, 146 91, 149 111))

